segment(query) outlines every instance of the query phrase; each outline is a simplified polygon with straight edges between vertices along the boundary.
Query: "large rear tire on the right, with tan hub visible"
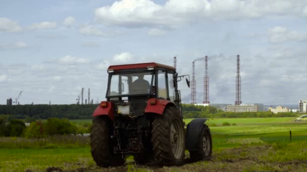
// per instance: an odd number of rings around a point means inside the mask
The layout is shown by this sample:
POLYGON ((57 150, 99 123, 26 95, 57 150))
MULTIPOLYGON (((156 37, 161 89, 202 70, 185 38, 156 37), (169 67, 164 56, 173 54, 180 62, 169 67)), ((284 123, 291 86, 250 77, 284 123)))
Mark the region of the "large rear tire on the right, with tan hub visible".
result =
POLYGON ((152 122, 151 142, 154 156, 161 165, 181 165, 184 158, 184 123, 175 107, 166 107, 152 122))

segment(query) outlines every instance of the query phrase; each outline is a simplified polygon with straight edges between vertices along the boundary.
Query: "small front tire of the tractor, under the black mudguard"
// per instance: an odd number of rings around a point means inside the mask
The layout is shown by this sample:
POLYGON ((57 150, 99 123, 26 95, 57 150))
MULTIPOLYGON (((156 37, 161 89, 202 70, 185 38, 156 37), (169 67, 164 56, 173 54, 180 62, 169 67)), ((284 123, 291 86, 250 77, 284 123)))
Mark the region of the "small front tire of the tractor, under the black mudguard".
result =
POLYGON ((210 160, 212 155, 212 138, 210 129, 206 124, 203 124, 201 133, 198 137, 197 150, 190 152, 191 161, 210 160))

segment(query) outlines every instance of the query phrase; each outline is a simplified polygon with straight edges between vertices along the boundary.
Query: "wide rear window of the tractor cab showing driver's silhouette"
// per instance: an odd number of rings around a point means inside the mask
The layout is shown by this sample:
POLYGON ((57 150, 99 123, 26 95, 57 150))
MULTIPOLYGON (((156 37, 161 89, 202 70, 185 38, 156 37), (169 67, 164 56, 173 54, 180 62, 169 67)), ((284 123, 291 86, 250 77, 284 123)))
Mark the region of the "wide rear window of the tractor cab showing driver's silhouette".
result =
POLYGON ((152 72, 112 74, 107 96, 149 94, 153 76, 152 72))

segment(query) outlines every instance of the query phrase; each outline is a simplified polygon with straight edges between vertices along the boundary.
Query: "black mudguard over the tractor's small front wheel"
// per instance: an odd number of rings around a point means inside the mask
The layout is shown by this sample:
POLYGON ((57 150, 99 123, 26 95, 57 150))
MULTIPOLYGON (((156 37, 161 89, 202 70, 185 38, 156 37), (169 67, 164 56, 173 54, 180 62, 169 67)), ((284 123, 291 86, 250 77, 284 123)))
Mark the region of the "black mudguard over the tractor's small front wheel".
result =
POLYGON ((206 118, 197 118, 193 119, 186 127, 186 136, 185 136, 185 149, 186 150, 197 150, 197 143, 199 134, 203 123, 206 122, 206 118))

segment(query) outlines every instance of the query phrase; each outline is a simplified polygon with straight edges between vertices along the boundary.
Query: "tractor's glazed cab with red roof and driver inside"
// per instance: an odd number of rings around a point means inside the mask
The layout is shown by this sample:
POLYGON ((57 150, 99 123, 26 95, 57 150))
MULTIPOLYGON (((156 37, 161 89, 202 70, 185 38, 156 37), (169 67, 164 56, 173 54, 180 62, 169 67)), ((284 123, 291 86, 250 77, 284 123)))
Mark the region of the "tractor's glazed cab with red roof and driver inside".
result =
POLYGON ((129 104, 139 111, 129 108, 127 114, 139 116, 148 102, 153 105, 160 101, 172 103, 181 110, 178 76, 174 67, 159 63, 112 65, 108 73, 106 98, 121 109, 118 110, 120 113, 123 109, 128 110, 123 106, 129 104))

